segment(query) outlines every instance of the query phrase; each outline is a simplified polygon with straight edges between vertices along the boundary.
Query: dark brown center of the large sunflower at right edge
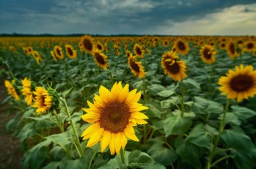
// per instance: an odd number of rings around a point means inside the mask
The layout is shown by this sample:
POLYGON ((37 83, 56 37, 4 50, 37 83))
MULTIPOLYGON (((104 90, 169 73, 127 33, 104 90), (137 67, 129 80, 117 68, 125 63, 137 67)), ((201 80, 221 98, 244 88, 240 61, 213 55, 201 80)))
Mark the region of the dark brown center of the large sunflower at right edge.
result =
POLYGON ((236 92, 243 92, 253 87, 253 79, 251 76, 238 75, 230 80, 230 88, 236 92))

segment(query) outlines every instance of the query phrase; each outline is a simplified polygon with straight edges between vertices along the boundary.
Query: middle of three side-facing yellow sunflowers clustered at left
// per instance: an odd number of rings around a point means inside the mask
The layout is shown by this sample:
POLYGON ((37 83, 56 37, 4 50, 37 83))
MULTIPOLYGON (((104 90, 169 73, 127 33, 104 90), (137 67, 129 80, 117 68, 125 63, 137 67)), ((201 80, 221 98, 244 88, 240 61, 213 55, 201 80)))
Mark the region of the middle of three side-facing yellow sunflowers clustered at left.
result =
POLYGON ((31 81, 28 78, 22 80, 22 95, 24 95, 27 105, 32 105, 33 94, 31 91, 31 81))

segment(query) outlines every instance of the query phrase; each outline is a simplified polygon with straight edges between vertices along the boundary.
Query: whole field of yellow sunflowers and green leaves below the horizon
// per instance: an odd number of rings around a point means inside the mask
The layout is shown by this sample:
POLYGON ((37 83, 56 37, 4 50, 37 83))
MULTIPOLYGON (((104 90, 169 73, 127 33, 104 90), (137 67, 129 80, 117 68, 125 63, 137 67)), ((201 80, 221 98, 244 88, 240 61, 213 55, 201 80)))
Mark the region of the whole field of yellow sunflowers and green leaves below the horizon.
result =
POLYGON ((21 168, 256 168, 255 36, 0 40, 21 168))

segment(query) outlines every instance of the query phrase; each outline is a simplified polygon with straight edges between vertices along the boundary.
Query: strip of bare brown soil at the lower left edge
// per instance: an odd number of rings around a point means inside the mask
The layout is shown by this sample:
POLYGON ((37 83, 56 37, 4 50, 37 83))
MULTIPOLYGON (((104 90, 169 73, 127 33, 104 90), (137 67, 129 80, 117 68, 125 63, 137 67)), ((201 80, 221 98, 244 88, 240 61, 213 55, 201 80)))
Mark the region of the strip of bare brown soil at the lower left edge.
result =
POLYGON ((4 78, 0 78, 0 168, 22 168, 22 152, 20 141, 13 137, 11 131, 7 131, 6 124, 15 115, 15 112, 8 113, 10 105, 1 104, 7 97, 7 91, 3 84, 4 78))

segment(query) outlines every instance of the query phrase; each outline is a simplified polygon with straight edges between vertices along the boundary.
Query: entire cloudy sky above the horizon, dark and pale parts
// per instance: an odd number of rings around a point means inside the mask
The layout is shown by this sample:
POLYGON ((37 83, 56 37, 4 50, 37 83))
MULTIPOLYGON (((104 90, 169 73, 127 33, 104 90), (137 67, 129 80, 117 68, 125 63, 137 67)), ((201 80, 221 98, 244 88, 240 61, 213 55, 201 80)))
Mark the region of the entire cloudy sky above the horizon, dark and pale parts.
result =
POLYGON ((1 0, 0 34, 256 35, 255 0, 1 0))

